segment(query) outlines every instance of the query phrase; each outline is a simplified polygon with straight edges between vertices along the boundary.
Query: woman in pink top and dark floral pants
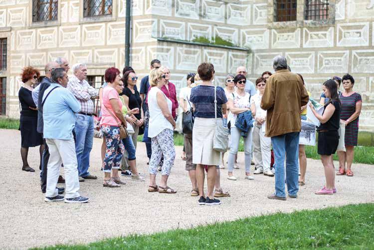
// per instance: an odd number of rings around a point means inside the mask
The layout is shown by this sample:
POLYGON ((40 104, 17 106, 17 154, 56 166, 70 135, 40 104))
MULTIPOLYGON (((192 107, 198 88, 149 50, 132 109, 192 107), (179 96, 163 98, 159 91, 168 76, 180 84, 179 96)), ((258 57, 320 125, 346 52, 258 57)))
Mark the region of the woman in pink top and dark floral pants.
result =
POLYGON ((121 187, 120 184, 125 184, 118 175, 118 169, 120 168, 125 149, 120 139, 119 126, 121 123, 124 127, 127 126, 126 119, 122 113, 122 102, 116 90, 116 86, 122 84, 122 79, 119 69, 114 67, 105 70, 104 78, 108 86, 103 89, 102 117, 100 120, 107 145, 103 163, 103 187, 118 188, 121 187))

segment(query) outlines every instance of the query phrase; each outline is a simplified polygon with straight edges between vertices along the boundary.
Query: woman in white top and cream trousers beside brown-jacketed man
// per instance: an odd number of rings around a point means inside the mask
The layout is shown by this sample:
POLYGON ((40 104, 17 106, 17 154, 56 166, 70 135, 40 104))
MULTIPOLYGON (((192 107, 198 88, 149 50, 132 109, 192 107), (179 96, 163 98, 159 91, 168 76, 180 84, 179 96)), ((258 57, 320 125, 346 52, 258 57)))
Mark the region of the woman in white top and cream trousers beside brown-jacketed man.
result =
POLYGON ((251 102, 256 105, 256 116, 253 128, 253 158, 255 160, 255 168, 253 174, 264 174, 274 176, 270 170, 271 163, 271 138, 265 137, 266 110, 261 109, 261 98, 265 91, 266 81, 259 77, 256 80, 257 94, 251 98, 251 102))

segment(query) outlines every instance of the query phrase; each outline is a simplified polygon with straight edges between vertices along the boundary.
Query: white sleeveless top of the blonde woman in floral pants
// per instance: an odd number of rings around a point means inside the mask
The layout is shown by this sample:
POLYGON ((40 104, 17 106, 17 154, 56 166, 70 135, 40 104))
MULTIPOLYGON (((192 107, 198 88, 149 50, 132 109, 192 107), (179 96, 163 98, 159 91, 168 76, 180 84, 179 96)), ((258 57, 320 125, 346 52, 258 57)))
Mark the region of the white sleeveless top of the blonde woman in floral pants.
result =
POLYGON ((157 103, 157 93, 160 92, 165 96, 168 103, 169 112, 172 113, 172 101, 158 87, 152 87, 148 91, 148 109, 149 109, 149 127, 148 137, 153 138, 160 134, 164 129, 173 130, 173 125, 165 118, 159 104, 157 103))

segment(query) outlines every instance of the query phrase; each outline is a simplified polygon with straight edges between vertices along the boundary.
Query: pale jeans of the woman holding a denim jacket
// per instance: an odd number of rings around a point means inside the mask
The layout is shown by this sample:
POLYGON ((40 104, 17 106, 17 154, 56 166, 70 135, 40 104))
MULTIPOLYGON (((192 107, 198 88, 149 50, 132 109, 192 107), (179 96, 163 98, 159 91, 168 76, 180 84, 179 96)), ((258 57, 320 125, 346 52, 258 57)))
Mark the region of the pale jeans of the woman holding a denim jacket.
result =
MULTIPOLYGON (((231 127, 231 144, 230 153, 228 155, 227 168, 228 172, 232 172, 234 168, 235 155, 238 153, 239 141, 241 137, 241 130, 236 127, 231 127)), ((247 137, 244 139, 244 159, 245 159, 245 173, 250 173, 251 159, 252 159, 252 130, 250 128, 247 137)))

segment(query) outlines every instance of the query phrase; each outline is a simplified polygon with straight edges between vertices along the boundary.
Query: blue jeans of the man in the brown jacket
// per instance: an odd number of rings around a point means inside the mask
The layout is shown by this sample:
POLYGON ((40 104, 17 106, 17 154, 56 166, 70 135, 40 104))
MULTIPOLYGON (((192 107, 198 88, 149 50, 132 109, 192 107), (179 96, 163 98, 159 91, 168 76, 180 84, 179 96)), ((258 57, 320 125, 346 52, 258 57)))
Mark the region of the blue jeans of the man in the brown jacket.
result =
POLYGON ((288 194, 294 196, 299 191, 299 134, 300 132, 293 132, 271 137, 275 158, 275 195, 278 197, 286 197, 284 185, 285 157, 288 194))

